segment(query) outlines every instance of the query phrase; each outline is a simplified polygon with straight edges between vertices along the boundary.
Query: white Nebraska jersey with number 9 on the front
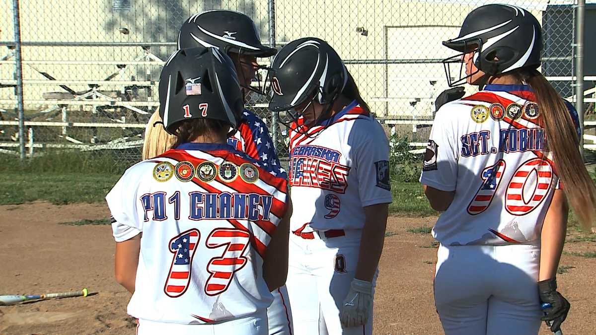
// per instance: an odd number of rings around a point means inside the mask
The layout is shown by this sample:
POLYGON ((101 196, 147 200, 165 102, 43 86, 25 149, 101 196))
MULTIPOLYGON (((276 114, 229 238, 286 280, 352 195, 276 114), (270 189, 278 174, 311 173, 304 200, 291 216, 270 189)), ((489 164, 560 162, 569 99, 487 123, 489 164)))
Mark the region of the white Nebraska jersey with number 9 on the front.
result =
POLYGON ((362 207, 392 201, 383 128, 356 101, 312 128, 301 117, 290 131, 290 185, 291 231, 362 229, 362 207))

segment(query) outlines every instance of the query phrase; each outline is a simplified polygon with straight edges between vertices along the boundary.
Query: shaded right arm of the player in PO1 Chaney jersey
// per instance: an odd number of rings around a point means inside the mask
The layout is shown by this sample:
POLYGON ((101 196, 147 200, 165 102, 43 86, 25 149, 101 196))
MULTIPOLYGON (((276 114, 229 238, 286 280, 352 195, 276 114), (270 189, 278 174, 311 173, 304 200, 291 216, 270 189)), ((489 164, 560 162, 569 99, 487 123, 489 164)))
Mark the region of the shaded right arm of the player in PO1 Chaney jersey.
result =
POLYGON ((292 210, 292 202, 288 195, 287 210, 271 237, 263 260, 263 278, 269 291, 284 286, 285 279, 288 277, 288 241, 292 210))

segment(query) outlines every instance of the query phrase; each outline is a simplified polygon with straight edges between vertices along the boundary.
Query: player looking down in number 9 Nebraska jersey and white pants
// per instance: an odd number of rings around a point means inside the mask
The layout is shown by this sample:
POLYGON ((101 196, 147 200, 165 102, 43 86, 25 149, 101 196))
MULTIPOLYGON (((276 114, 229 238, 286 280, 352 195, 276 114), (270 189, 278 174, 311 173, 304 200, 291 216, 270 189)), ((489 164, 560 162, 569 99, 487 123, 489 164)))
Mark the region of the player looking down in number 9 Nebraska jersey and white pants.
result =
POLYGON ((388 204, 389 144, 343 61, 325 41, 285 45, 269 108, 290 127, 287 288, 296 334, 371 334, 388 204))

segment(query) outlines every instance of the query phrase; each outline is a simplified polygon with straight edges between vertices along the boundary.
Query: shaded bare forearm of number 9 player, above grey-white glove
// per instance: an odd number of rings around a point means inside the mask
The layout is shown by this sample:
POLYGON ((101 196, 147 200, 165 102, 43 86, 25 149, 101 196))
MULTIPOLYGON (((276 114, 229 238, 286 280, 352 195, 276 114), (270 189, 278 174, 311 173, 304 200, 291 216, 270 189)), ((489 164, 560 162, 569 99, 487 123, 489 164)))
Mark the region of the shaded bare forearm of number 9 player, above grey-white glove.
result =
POLYGON ((381 203, 366 206, 364 207, 364 215, 365 221, 360 240, 355 278, 372 282, 383 252, 389 204, 381 203))

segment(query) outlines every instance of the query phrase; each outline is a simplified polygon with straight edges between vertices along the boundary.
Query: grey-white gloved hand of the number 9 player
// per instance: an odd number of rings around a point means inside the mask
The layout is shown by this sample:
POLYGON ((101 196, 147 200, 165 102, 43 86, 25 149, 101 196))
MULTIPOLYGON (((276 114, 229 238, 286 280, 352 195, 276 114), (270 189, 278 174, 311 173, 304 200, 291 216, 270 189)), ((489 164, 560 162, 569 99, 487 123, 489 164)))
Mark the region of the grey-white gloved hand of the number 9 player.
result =
POLYGON ((342 303, 340 320, 343 326, 349 328, 366 324, 371 305, 373 305, 373 283, 354 278, 350 291, 342 303))

